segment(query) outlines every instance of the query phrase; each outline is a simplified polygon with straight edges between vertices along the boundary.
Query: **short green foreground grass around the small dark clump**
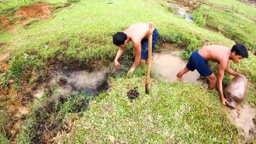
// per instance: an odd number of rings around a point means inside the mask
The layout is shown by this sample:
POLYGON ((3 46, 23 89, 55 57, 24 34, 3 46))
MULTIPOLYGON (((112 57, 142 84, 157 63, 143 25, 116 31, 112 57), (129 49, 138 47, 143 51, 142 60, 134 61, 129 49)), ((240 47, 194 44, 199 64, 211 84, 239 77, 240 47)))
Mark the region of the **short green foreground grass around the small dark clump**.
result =
POLYGON ((111 91, 90 103, 64 143, 110 143, 108 135, 116 143, 238 143, 241 139, 221 112, 217 91, 151 79, 146 95, 144 81, 137 76, 111 79, 111 91), (140 95, 130 101, 126 92, 134 86, 140 95))

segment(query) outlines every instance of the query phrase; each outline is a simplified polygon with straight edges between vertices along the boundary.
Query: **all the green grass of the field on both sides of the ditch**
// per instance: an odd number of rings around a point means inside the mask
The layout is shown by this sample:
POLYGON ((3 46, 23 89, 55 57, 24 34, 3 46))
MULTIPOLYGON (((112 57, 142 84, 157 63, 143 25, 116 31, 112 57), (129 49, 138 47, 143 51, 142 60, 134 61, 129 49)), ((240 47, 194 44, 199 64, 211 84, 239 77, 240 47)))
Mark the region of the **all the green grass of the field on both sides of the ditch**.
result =
MULTIPOLYGON (((21 2, 18 7, 26 5, 21 2)), ((44 2, 52 4, 51 7, 54 8, 68 1, 44 2)), ((255 31, 253 31, 255 22, 245 22, 244 19, 229 12, 212 10, 207 6, 201 6, 196 10, 198 15, 209 16, 205 18, 205 22, 212 27, 218 22, 226 26, 225 18, 227 17, 237 20, 237 23, 220 30, 223 33, 215 33, 171 13, 166 1, 115 0, 111 1, 113 4, 107 4, 108 2, 82 0, 59 9, 47 20, 31 22, 27 28, 17 24, 12 26, 18 28, 16 32, 12 29, 0 30, 0 43, 5 44, 0 49, 0 54, 10 54, 8 60, 3 60, 9 63, 9 68, 5 73, 0 74, 0 88, 8 89, 8 81, 14 79, 14 88, 22 90, 21 79, 26 77, 27 71, 35 70, 35 76, 41 76, 49 70, 47 67, 52 59, 66 67, 76 65, 86 68, 90 67, 91 62, 94 61, 102 61, 107 63, 107 66, 113 65, 118 47, 113 44, 112 36, 138 21, 153 22, 160 36, 157 48, 161 49, 162 40, 167 39, 168 42, 180 48, 183 59, 188 59, 191 52, 200 49, 205 42, 208 42, 207 45, 233 46, 235 42, 229 39, 233 32, 229 31, 230 33, 226 34, 228 30, 238 31, 241 35, 232 39, 237 38, 237 41, 255 50, 255 31), (241 23, 244 28, 240 27, 241 23), (47 48, 44 47, 45 44, 47 48), (24 56, 25 53, 28 54, 27 57, 24 56)), ((227 1, 209 2, 230 6, 227 1)), ((7 4, 15 6, 14 1, 7 4)), ((255 8, 242 3, 239 3, 240 5, 238 14, 255 18, 253 13, 255 8)), ((7 6, 0 4, 0 7, 2 8, 0 13, 7 17, 4 11, 7 6)), ((204 17, 201 18, 204 19, 204 17)), ((236 34, 232 36, 237 36, 236 34)), ((132 57, 134 52, 129 45, 122 59, 131 62, 132 57)), ((230 64, 231 68, 245 75, 249 80, 248 97, 245 102, 252 107, 256 105, 255 62, 255 56, 250 53, 249 59, 242 60, 238 65, 233 62, 230 64)), ((216 70, 217 67, 214 67, 214 73, 216 70)), ((53 85, 51 92, 45 94, 34 106, 31 103, 26 105, 30 108, 31 114, 24 118, 27 126, 20 127, 15 140, 18 143, 42 142, 36 140, 37 126, 42 123, 42 120, 45 120, 44 124, 51 125, 54 122, 60 124, 58 125, 60 127, 57 126, 58 129, 53 132, 56 135, 61 130, 66 132, 63 128, 66 123, 79 115, 73 130, 68 134, 57 135, 55 141, 110 143, 109 138, 113 139, 113 137, 116 143, 241 143, 243 141, 238 128, 231 124, 223 113, 217 91, 205 90, 202 86, 189 83, 164 83, 152 77, 150 94, 146 95, 145 73, 145 69, 138 68, 128 77, 126 74, 110 76, 108 82, 111 84, 111 89, 101 93, 95 100, 90 100, 89 109, 86 111, 81 112, 75 108, 78 105, 77 102, 87 97, 84 92, 78 92, 75 96, 69 95, 69 99, 62 103, 57 102, 52 108, 55 110, 54 113, 49 111, 39 113, 38 107, 50 105, 49 99, 56 97, 55 89, 57 88, 53 85), (126 92, 135 86, 139 86, 140 96, 131 102, 127 99, 126 92)), ((29 84, 36 84, 33 79, 36 78, 29 79, 29 84)), ((224 83, 228 82, 230 78, 226 77, 224 83)), ((5 105, 5 101, 1 101, 2 111, 5 105)), ((5 116, 4 113, 0 114, 5 116)), ((6 118, 9 117, 6 116, 6 118)), ((0 141, 6 141, 4 129, 6 119, 2 119, 0 141)))

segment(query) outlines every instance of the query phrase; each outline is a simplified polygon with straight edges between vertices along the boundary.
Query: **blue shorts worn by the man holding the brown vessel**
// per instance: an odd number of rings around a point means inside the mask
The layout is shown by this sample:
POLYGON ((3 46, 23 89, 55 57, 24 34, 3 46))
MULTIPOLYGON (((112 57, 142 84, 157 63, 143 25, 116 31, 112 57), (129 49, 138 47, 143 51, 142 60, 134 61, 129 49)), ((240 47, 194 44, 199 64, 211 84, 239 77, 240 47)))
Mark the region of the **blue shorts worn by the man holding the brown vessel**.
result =
POLYGON ((207 60, 198 51, 192 53, 186 67, 190 71, 196 69, 201 76, 210 76, 212 74, 211 68, 207 65, 207 60))

